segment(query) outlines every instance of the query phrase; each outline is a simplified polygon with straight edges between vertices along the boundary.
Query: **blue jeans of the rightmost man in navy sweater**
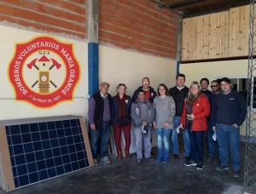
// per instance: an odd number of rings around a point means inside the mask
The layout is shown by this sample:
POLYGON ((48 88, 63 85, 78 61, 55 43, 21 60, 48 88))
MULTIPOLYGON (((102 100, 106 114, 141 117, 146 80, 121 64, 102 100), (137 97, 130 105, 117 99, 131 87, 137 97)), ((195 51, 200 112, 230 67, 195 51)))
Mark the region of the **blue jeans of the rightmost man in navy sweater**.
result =
POLYGON ((240 150, 239 136, 240 128, 235 128, 232 125, 216 124, 216 134, 218 140, 218 152, 221 165, 229 165, 229 145, 231 151, 232 168, 240 170, 240 150))

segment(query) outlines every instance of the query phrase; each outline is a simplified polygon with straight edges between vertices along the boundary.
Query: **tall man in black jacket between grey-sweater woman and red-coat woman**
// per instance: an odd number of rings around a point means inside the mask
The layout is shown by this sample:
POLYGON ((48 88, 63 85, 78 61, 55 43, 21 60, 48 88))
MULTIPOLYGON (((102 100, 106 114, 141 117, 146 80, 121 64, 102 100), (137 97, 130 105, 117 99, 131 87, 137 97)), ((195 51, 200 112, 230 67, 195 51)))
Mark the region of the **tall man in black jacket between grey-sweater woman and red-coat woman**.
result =
MULTIPOLYGON (((178 158, 178 141, 177 141, 177 127, 180 124, 180 117, 183 111, 183 102, 189 93, 189 88, 185 86, 186 77, 184 74, 178 74, 176 77, 176 86, 170 88, 170 94, 175 101, 176 113, 173 118, 173 128, 172 128, 172 153, 175 159, 178 158)), ((190 142, 189 142, 189 133, 185 129, 183 131, 183 145, 184 145, 184 157, 189 161, 190 156, 190 142)))

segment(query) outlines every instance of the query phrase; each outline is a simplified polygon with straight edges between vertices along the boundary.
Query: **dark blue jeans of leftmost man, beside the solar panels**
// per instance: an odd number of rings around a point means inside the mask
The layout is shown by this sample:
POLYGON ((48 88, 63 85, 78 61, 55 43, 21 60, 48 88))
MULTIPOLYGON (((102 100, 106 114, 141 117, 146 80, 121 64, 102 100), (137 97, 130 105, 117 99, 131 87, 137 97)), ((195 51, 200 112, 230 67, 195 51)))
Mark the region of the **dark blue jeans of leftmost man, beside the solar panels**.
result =
POLYGON ((109 132, 110 122, 103 122, 102 128, 96 128, 96 130, 90 129, 90 146, 93 158, 96 159, 99 149, 101 158, 107 157, 109 132))

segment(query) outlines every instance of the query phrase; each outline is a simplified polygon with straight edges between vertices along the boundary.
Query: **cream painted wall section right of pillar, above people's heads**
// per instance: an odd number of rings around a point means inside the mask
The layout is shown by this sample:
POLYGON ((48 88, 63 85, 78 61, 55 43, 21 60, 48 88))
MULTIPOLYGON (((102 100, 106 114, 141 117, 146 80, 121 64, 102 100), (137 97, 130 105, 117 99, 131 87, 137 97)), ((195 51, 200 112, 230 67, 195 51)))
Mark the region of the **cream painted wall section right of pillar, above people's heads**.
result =
POLYGON ((109 93, 116 94, 119 83, 128 87, 127 94, 142 85, 142 78, 149 77, 156 89, 160 83, 168 88, 175 84, 176 60, 141 54, 120 48, 100 46, 100 82, 110 83, 109 93))

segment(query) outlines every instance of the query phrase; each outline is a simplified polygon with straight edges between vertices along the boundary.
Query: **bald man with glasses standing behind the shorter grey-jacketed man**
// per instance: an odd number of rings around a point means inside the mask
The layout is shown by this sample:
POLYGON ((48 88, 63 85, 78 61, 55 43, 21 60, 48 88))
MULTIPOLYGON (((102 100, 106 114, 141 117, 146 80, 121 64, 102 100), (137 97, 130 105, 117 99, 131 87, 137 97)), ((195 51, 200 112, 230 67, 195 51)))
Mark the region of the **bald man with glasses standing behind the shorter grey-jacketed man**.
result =
POLYGON ((143 92, 145 94, 145 98, 150 100, 150 102, 153 102, 154 97, 156 96, 156 92, 154 91, 154 88, 149 86, 149 78, 148 77, 143 77, 143 85, 137 88, 135 92, 132 95, 132 101, 137 100, 137 94, 138 92, 143 89, 143 92))

